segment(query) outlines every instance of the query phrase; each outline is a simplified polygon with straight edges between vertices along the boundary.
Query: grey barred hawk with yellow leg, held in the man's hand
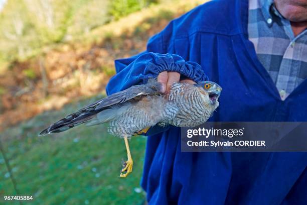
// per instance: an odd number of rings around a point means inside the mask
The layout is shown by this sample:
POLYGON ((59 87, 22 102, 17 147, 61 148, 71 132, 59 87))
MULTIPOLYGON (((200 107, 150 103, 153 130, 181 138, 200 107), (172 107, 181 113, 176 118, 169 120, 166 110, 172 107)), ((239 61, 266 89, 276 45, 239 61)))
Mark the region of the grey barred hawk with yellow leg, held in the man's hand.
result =
POLYGON ((175 82, 170 91, 164 93, 157 78, 150 78, 145 84, 115 92, 68 115, 40 135, 63 132, 83 123, 88 126, 109 123, 108 133, 125 142, 127 161, 119 176, 126 177, 133 167, 128 144, 132 136, 146 134, 156 126, 196 127, 205 123, 219 106, 221 90, 221 86, 212 81, 175 82))

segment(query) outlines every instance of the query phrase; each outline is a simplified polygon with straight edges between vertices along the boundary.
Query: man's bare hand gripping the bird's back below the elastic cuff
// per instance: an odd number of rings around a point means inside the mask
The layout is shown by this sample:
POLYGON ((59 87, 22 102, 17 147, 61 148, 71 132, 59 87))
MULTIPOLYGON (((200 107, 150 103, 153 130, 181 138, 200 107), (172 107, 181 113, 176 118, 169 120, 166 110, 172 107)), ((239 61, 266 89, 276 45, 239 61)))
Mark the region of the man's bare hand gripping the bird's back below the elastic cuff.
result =
MULTIPOLYGON (((162 91, 164 93, 167 93, 170 91, 171 85, 174 82, 179 82, 180 81, 180 73, 178 72, 168 72, 168 71, 163 71, 158 75, 158 82, 161 82, 162 84, 162 91)), ((189 84, 195 84, 193 80, 190 79, 185 79, 181 80, 181 82, 187 82, 189 84)))

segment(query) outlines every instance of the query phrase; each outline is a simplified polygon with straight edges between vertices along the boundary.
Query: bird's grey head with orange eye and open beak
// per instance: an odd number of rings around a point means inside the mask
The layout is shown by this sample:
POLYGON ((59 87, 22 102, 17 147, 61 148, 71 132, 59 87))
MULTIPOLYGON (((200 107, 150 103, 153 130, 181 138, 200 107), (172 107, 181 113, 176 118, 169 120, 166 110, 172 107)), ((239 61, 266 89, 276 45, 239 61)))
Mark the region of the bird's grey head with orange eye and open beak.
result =
POLYGON ((209 100, 212 105, 218 106, 217 100, 222 91, 222 87, 219 84, 212 81, 203 81, 194 85, 199 88, 201 93, 209 97, 209 100))

